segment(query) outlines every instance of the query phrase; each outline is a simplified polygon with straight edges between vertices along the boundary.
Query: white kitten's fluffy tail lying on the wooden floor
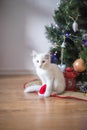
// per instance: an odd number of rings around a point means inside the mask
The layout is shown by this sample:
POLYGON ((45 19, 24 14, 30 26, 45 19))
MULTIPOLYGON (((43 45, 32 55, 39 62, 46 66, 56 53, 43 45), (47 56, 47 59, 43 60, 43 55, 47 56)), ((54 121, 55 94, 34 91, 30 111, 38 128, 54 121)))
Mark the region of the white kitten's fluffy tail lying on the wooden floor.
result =
POLYGON ((29 86, 27 86, 25 89, 24 89, 24 92, 25 93, 29 93, 29 92, 37 92, 37 91, 39 91, 39 89, 40 89, 40 87, 41 87, 41 85, 29 85, 29 86))

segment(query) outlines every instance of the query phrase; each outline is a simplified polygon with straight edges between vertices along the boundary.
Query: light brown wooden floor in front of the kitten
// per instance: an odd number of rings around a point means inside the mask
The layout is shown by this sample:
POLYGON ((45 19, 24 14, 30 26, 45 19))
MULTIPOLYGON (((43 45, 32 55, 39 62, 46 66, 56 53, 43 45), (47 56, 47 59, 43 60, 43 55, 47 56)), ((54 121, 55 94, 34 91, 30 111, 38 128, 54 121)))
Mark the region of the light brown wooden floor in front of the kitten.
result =
POLYGON ((0 130, 87 130, 87 102, 25 94, 30 76, 0 76, 0 130))

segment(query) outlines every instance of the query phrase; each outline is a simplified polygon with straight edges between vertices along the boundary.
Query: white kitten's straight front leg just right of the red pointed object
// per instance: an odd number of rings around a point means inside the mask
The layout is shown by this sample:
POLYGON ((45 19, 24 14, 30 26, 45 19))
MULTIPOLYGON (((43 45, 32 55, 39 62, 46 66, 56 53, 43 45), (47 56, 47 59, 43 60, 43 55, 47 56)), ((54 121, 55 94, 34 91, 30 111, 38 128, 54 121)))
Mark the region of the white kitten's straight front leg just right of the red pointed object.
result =
POLYGON ((49 97, 51 95, 52 92, 52 85, 53 85, 53 80, 49 80, 46 83, 46 91, 44 93, 44 97, 49 97))

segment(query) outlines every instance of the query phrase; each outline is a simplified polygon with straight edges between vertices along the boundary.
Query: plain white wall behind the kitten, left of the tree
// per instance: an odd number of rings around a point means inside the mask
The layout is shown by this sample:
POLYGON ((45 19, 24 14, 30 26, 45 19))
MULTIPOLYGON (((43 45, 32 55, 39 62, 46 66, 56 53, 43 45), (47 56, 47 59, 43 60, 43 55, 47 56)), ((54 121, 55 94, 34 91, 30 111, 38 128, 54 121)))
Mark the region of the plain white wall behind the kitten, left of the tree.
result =
POLYGON ((0 74, 34 70, 31 52, 49 50, 45 25, 52 22, 57 0, 0 1, 0 74))

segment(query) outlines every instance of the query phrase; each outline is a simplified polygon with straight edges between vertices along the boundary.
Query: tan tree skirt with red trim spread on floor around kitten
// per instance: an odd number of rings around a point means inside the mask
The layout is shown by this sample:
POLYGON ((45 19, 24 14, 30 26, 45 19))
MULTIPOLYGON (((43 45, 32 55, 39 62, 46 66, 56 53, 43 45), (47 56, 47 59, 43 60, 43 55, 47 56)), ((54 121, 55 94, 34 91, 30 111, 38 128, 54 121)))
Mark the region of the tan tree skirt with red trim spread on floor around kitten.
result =
MULTIPOLYGON (((31 87, 32 85, 41 85, 41 81, 39 79, 33 79, 24 84, 24 89, 26 87, 31 87)), ((37 92, 35 92, 37 93, 37 92)), ((76 99, 76 100, 83 100, 87 101, 87 93, 82 93, 78 91, 65 91, 62 94, 52 94, 51 97, 58 97, 62 99, 76 99)))

